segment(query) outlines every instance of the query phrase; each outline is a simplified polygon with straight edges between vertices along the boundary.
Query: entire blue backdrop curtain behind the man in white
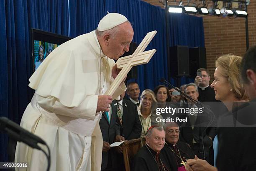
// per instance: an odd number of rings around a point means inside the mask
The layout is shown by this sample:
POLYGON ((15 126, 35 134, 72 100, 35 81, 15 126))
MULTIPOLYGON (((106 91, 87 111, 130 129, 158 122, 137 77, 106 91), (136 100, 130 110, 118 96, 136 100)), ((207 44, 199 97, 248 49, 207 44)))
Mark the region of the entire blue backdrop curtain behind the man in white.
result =
MULTIPOLYGON (((138 66, 136 81, 141 90, 154 89, 159 79, 167 78, 165 12, 160 7, 141 0, 0 0, 0 116, 19 123, 33 95, 28 88, 31 27, 65 36, 70 29, 69 36, 75 37, 95 30, 107 11, 131 21, 136 43, 149 31, 158 32, 146 48, 155 48, 156 54, 148 64, 138 66)), ((169 23, 170 46, 204 47, 202 18, 169 14, 169 23)), ((193 78, 182 78, 182 83, 191 81, 193 78)), ((7 136, 0 134, 0 161, 7 157, 7 136)))

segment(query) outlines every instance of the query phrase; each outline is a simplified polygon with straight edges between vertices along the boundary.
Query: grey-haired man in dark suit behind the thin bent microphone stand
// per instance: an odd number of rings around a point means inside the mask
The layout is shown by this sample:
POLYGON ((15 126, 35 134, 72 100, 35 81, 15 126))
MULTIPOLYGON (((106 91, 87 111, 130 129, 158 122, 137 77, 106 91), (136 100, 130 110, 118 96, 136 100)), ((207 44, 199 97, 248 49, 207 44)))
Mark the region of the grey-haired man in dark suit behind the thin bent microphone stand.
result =
MULTIPOLYGON (((194 100, 198 100, 198 89, 195 83, 189 83, 184 88, 184 92, 194 100)), ((184 108, 189 108, 190 111, 199 111, 199 107, 195 105, 194 102, 187 99, 188 104, 184 105, 184 108), (193 109, 192 109, 193 108, 193 109), (197 108, 197 110, 196 110, 197 108)), ((205 149, 205 159, 208 159, 209 156, 209 148, 212 146, 212 139, 215 137, 215 127, 209 127, 205 130, 206 127, 198 127, 195 125, 200 125, 204 120, 202 114, 199 115, 199 112, 190 112, 186 114, 187 122, 184 123, 184 126, 181 127, 180 140, 188 143, 192 148, 195 155, 199 158, 203 158, 202 147, 200 147, 200 129, 202 130, 202 137, 204 142, 205 149)))

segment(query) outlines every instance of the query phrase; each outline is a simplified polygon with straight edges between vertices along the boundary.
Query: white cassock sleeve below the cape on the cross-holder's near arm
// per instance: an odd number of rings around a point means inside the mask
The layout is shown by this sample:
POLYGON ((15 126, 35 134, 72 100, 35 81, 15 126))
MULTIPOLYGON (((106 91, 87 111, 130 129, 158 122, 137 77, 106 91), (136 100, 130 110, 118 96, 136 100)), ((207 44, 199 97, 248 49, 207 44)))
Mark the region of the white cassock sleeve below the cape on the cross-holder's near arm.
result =
POLYGON ((77 107, 67 107, 61 104, 56 97, 42 97, 36 94, 36 99, 42 108, 58 115, 64 115, 74 118, 83 118, 87 120, 94 120, 97 109, 97 95, 87 96, 82 103, 77 107))

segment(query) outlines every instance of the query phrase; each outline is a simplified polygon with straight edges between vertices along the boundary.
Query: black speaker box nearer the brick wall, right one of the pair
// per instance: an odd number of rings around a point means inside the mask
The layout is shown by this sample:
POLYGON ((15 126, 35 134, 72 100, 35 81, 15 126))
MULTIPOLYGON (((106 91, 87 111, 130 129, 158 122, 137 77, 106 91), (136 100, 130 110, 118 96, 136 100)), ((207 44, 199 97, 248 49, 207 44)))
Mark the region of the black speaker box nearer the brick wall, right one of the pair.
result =
POLYGON ((197 69, 206 68, 206 49, 204 47, 189 48, 189 67, 191 77, 197 76, 197 69))

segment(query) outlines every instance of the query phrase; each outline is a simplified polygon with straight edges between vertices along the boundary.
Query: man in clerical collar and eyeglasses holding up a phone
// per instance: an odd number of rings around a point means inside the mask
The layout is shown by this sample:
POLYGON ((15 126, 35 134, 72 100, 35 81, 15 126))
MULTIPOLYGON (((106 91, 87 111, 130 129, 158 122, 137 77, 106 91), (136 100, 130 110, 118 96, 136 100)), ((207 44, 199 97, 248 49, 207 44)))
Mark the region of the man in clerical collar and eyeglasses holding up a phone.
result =
POLYGON ((216 102, 214 90, 209 86, 210 74, 205 68, 197 69, 195 84, 198 87, 200 102, 216 102))

